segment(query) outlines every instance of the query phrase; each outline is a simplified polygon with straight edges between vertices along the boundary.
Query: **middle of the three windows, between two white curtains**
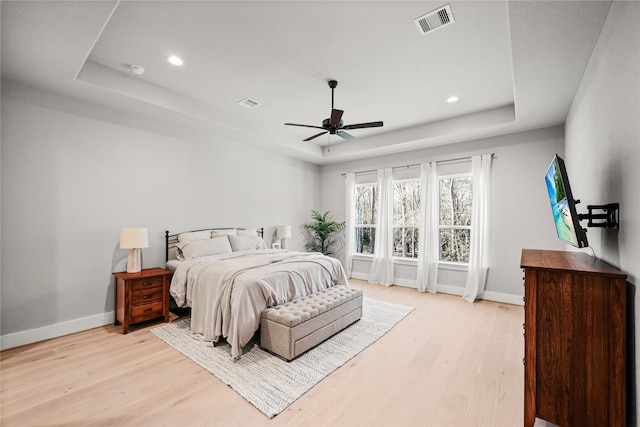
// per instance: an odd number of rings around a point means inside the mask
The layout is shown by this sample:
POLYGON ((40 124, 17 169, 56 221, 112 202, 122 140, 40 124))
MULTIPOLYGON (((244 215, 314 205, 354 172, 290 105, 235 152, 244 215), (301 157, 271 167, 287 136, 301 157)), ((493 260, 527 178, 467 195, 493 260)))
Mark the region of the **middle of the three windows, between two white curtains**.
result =
POLYGON ((420 181, 393 183, 393 256, 418 257, 420 181))

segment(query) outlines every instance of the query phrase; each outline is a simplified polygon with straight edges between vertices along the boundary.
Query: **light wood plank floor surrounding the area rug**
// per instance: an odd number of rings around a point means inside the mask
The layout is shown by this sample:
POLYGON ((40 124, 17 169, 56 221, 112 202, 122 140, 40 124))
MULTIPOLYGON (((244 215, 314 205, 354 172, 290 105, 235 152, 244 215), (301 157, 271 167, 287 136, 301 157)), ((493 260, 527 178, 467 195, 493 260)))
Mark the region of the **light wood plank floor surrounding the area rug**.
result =
POLYGON ((523 308, 352 280, 415 311, 269 420, 143 326, 1 353, 8 426, 521 426, 523 308))

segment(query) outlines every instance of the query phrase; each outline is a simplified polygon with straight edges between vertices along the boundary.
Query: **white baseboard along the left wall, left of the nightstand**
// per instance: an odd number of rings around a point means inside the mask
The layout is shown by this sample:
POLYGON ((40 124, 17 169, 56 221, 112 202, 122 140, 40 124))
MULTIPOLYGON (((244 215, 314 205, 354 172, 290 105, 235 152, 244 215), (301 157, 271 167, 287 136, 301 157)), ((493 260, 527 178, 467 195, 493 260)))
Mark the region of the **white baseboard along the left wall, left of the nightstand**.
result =
POLYGON ((87 329, 113 323, 115 312, 96 314, 95 316, 83 317, 81 319, 69 320, 67 322, 56 323, 55 325, 43 326, 41 328, 29 329, 0 336, 0 350, 20 347, 21 345, 32 344, 75 332, 86 331, 87 329))

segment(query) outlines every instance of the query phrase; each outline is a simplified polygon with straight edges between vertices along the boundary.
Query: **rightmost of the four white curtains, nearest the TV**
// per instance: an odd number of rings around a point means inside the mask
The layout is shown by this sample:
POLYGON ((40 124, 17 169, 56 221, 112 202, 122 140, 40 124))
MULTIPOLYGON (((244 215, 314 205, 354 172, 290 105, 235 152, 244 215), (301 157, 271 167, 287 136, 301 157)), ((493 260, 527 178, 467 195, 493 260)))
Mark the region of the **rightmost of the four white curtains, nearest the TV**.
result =
POLYGON ((462 297, 474 302, 484 292, 487 279, 489 247, 489 211, 491 201, 491 154, 471 158, 473 205, 467 286, 462 297))

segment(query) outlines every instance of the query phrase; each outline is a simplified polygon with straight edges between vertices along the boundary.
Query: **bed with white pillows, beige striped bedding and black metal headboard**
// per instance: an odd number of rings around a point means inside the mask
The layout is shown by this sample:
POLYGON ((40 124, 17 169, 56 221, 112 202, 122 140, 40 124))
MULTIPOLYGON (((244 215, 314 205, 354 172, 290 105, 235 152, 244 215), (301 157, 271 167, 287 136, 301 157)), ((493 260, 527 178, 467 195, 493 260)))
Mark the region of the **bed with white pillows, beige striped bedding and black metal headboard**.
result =
POLYGON ((268 249, 262 229, 204 229, 166 232, 166 265, 173 272, 169 292, 191 309, 191 333, 226 342, 231 357, 260 326, 268 307, 337 285, 348 286, 340 262, 316 252, 268 249))

